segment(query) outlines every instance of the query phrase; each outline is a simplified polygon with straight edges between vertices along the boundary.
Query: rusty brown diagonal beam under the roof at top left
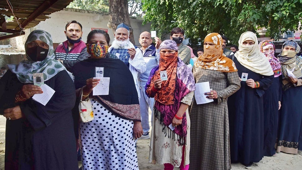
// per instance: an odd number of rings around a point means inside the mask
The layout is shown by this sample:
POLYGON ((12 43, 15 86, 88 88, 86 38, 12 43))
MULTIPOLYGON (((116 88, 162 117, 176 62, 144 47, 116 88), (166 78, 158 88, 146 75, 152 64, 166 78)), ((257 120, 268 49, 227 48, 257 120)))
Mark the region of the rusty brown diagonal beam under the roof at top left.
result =
MULTIPOLYGON (((30 22, 35 20, 36 17, 39 17, 44 11, 46 11, 57 1, 58 0, 46 0, 45 2, 43 2, 34 12, 31 13, 30 16, 27 17, 26 20, 21 23, 21 27, 26 27, 30 22)), ((20 30, 20 27, 16 27, 15 30, 20 30)))

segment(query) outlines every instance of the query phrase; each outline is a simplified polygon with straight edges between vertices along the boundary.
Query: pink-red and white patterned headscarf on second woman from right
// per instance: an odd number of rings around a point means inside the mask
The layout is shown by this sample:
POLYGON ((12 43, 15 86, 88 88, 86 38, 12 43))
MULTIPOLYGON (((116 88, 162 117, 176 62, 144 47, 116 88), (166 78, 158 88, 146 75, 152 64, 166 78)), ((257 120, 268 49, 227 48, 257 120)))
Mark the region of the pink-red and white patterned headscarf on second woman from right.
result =
POLYGON ((271 68, 273 69, 273 72, 274 72, 274 76, 279 77, 282 74, 281 65, 280 65, 280 61, 275 57, 276 48, 275 48, 274 43, 272 43, 269 40, 264 40, 259 43, 259 48, 260 48, 260 51, 267 57, 268 61, 270 62, 271 68), (274 48, 274 51, 269 50, 269 51, 263 52, 263 49, 266 49, 269 46, 272 46, 274 48))

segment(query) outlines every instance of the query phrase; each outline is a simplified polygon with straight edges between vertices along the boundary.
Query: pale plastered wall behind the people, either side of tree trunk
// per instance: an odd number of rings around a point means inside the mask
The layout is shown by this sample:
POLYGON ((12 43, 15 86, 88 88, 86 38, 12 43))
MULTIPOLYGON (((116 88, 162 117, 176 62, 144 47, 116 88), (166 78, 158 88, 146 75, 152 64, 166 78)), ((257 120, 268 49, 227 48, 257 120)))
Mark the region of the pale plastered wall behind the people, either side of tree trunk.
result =
MULTIPOLYGON (((32 30, 45 30, 49 32, 52 36, 53 43, 62 43, 66 41, 66 36, 64 34, 65 25, 68 21, 76 20, 80 22, 83 26, 83 36, 82 40, 87 41, 87 35, 92 30, 92 28, 102 28, 107 29, 111 41, 114 39, 112 30, 107 27, 109 22, 109 15, 106 13, 96 12, 96 11, 87 11, 79 9, 65 8, 62 11, 54 12, 50 14, 49 19, 40 22, 37 26, 26 29, 26 35, 18 36, 16 38, 11 38, 11 45, 16 48, 24 49, 24 43, 28 34, 32 30)), ((142 26, 143 20, 141 18, 130 18, 131 27, 133 28, 135 45, 140 46, 139 44, 139 35, 143 31, 150 31, 150 25, 146 24, 142 26)))

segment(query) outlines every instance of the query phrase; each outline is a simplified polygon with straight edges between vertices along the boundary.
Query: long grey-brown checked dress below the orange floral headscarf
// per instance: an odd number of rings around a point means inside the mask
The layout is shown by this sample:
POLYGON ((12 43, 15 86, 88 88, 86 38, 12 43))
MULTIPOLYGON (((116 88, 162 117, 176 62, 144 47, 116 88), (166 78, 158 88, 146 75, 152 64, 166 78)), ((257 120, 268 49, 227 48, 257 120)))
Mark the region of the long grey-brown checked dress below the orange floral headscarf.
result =
POLYGON ((217 91, 218 99, 206 104, 196 104, 190 111, 191 152, 190 168, 207 170, 229 170, 229 117, 228 97, 240 88, 238 73, 205 70, 194 67, 196 83, 209 81, 210 88, 217 91))

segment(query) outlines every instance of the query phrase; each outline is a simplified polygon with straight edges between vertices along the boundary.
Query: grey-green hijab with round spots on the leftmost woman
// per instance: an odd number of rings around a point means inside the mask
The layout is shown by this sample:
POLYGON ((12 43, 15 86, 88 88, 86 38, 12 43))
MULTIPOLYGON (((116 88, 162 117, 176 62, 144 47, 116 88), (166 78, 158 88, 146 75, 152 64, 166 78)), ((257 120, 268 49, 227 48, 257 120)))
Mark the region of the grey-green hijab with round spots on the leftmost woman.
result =
MULTIPOLYGON (((58 72, 66 70, 61 62, 55 60, 54 46, 50 33, 43 30, 35 30, 29 34, 24 46, 26 58, 28 60, 23 60, 19 64, 7 65, 9 70, 17 75, 17 78, 21 83, 33 83, 34 73, 43 73, 44 81, 46 81, 51 79, 58 72), (35 40, 43 41, 49 45, 48 55, 43 61, 32 61, 27 55, 27 43, 35 40)), ((68 72, 68 74, 73 79, 73 75, 70 72, 68 72)))

